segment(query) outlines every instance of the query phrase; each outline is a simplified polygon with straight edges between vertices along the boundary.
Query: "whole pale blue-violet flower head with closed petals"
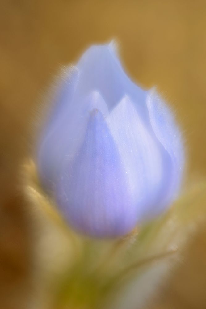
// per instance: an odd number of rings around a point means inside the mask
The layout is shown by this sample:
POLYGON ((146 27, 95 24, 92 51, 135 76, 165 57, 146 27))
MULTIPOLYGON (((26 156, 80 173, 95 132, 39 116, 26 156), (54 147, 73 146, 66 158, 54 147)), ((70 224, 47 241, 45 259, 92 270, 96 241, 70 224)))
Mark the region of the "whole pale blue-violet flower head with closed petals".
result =
POLYGON ((124 73, 112 44, 66 68, 43 130, 40 180, 76 230, 121 236, 177 195, 183 145, 170 110, 124 73))

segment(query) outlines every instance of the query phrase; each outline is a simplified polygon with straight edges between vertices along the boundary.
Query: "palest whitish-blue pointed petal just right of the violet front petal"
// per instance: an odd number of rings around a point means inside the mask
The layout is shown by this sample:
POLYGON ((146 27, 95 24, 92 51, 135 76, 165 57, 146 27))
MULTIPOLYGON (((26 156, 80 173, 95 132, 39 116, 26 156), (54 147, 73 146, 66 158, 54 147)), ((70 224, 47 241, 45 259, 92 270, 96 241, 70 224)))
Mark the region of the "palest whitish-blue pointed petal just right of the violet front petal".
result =
POLYGON ((171 160, 151 134, 128 96, 114 108, 107 123, 127 171, 128 183, 137 207, 137 220, 152 218, 160 201, 171 160))

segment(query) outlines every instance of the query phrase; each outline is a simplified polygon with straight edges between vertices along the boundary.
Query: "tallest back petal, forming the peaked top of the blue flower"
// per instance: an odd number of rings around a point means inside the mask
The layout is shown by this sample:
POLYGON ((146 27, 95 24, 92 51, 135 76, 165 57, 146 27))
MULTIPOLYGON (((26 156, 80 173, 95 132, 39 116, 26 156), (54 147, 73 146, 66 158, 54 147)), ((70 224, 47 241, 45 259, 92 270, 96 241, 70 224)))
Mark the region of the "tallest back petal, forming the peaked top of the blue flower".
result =
POLYGON ((135 85, 125 74, 112 44, 91 46, 83 54, 77 67, 80 71, 78 96, 96 89, 111 111, 128 94, 139 112, 145 114, 146 91, 135 85))

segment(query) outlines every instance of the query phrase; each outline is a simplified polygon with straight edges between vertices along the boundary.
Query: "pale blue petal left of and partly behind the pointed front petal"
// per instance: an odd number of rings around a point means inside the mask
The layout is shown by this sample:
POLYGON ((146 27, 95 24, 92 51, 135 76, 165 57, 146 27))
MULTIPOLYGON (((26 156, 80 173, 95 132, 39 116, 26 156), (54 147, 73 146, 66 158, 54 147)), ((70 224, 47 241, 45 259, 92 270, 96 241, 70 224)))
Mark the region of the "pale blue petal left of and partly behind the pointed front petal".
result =
POLYGON ((68 95, 63 98, 66 101, 60 102, 57 117, 50 121, 49 129, 46 127, 42 134, 38 153, 41 180, 48 189, 53 188, 65 155, 72 160, 81 146, 90 111, 98 108, 104 116, 108 114, 107 105, 97 91, 90 93, 78 105, 68 95))

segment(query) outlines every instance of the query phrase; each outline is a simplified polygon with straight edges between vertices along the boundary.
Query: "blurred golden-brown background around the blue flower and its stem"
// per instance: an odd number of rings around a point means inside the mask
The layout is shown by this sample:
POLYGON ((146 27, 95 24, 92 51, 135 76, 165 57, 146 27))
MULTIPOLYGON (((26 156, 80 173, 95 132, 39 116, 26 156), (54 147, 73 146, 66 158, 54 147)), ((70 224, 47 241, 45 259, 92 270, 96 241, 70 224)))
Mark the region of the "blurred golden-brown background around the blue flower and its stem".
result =
MULTIPOLYGON (((204 178, 206 2, 1 0, 0 29, 0 307, 27 309, 35 224, 19 170, 31 154, 39 98, 61 65, 74 63, 91 44, 116 39, 131 78, 156 85, 174 109, 185 137, 187 179, 204 178)), ((201 227, 153 309, 204 309, 205 287, 201 227)))

